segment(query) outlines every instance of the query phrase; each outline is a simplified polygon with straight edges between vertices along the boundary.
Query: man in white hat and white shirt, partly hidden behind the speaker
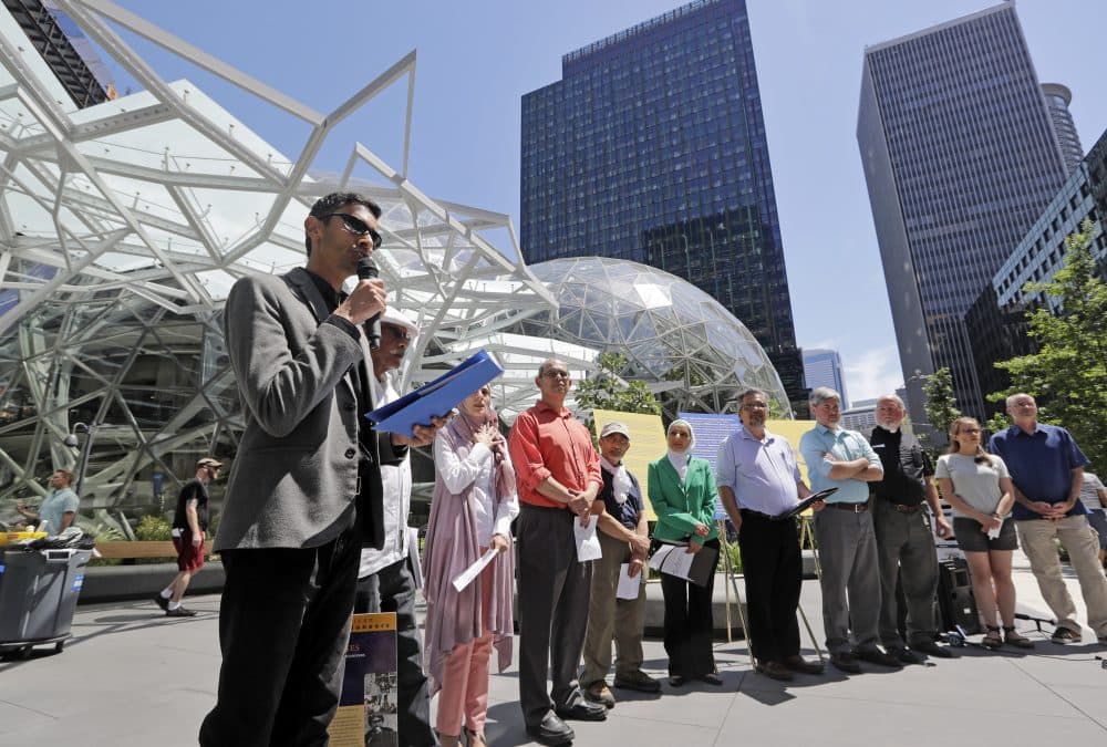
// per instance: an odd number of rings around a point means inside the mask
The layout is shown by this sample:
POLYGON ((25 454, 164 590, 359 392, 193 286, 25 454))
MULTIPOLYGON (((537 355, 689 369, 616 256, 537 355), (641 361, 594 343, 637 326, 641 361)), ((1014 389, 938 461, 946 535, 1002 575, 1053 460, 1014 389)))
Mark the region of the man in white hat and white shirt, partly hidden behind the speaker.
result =
MULTIPOLYGON (((381 407, 400 398, 390 372, 400 369, 418 328, 399 309, 387 307, 381 314, 381 344, 371 350, 373 403, 381 407)), ((431 706, 423 651, 415 621, 416 572, 407 540, 407 515, 412 505, 411 458, 399 466, 381 466, 384 490, 384 544, 380 550, 363 548, 358 570, 354 612, 396 613, 396 693, 402 743, 437 745, 431 728, 431 706)))

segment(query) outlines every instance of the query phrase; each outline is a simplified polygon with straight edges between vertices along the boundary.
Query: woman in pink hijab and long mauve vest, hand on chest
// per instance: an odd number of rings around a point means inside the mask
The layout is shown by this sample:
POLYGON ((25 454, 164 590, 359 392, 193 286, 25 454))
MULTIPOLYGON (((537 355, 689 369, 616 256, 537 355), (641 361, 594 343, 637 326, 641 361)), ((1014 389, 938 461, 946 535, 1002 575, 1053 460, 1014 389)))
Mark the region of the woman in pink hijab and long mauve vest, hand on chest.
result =
POLYGON ((438 693, 443 747, 458 744, 463 720, 468 744, 483 747, 493 649, 500 672, 511 663, 511 520, 519 500, 492 390, 482 386, 459 409, 434 440, 434 498, 423 562, 426 666, 431 695, 438 693), (496 550, 495 559, 457 591, 454 578, 489 549, 496 550))

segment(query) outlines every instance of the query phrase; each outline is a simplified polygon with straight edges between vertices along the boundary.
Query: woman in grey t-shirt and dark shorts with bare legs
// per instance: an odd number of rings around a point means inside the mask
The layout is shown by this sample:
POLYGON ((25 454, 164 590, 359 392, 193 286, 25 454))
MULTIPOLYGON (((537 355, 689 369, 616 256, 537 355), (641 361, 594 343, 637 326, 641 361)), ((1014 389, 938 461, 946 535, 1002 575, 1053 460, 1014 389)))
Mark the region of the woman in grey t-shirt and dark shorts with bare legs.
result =
POLYGON ((980 423, 959 417, 950 426, 950 453, 938 459, 938 481, 953 507, 953 536, 965 553, 972 592, 984 618, 985 649, 1008 643, 1032 649, 1034 642, 1015 631, 1015 584, 1011 554, 1018 547, 1014 522, 1006 520, 1014 504, 1014 486, 1003 459, 980 444, 980 423), (1003 637, 996 625, 1000 611, 1003 637))

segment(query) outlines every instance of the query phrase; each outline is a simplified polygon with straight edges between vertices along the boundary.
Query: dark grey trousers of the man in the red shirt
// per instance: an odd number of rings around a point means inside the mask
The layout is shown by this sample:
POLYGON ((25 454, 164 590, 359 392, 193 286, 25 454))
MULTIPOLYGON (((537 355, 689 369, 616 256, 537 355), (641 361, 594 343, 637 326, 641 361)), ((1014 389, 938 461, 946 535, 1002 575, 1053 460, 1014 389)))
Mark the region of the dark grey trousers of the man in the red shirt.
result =
POLYGON ((592 563, 577 560, 576 516, 527 504, 520 509, 519 703, 527 726, 538 726, 551 708, 569 707, 580 698, 577 673, 588 627, 592 563), (549 694, 547 673, 554 681, 549 694))

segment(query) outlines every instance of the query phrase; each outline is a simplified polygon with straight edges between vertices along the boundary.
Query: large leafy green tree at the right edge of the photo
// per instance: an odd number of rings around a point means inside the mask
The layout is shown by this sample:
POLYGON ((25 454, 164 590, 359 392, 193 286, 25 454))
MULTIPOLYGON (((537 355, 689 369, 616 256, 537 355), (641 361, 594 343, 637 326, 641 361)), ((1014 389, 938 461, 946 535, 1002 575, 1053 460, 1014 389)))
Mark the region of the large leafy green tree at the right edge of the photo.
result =
POLYGON ((1094 228, 1085 220, 1065 239, 1065 264, 1052 281, 1024 288, 1049 301, 1026 313, 1038 352, 996 363, 1011 388, 989 398, 1030 394, 1041 421, 1068 428, 1093 465, 1107 469, 1107 286, 1092 253, 1094 228))

